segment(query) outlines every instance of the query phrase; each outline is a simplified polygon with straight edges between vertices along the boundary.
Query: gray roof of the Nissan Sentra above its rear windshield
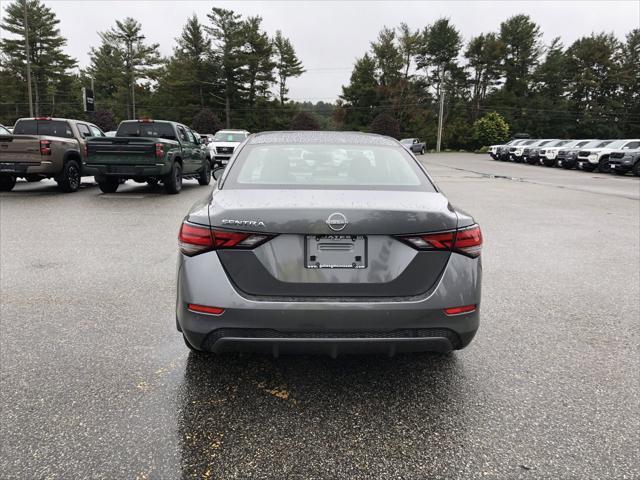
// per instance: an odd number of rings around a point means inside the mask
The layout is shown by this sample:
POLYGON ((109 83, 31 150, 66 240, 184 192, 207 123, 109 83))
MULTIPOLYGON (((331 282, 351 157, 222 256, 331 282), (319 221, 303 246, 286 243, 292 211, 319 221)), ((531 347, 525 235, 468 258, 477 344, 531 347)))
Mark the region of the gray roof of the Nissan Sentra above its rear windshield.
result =
POLYGON ((249 137, 249 144, 345 144, 398 146, 398 141, 375 133, 332 131, 260 132, 249 137))

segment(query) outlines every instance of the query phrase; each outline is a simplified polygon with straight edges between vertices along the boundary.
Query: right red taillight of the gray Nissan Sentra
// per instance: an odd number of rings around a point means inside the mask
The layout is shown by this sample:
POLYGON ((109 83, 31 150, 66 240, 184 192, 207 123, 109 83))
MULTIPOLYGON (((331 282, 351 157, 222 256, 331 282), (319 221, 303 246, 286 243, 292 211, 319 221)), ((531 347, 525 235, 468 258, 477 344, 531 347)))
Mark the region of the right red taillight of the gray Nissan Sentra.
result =
POLYGON ((447 250, 475 258, 482 250, 482 232, 478 225, 448 232, 398 237, 417 250, 447 250))

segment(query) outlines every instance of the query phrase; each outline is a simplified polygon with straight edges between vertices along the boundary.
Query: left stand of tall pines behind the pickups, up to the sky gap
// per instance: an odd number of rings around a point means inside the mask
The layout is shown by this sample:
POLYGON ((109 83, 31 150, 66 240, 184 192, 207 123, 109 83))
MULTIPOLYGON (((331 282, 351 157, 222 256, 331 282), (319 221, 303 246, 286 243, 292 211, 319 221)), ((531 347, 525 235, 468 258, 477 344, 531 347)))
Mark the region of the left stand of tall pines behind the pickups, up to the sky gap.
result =
POLYGON ((81 89, 93 82, 97 111, 91 117, 106 129, 142 116, 195 122, 207 133, 225 126, 289 128, 300 108, 287 97, 288 82, 304 67, 291 41, 281 31, 270 37, 261 22, 214 7, 206 20, 191 16, 172 55, 163 58, 142 24, 124 18, 99 32, 88 67, 78 71, 77 60, 64 52, 55 12, 41 0, 16 0, 0 25, 12 34, 0 40, 0 121, 10 125, 29 112, 26 31, 35 115, 83 118, 81 89))

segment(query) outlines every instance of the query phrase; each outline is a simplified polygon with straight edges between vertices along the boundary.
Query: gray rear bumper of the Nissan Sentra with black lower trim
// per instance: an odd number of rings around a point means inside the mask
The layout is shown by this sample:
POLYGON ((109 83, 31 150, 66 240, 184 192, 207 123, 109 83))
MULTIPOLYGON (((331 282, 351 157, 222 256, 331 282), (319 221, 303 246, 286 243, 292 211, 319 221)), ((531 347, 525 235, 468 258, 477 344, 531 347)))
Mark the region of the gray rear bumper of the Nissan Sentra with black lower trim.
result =
POLYGON ((385 353, 464 348, 479 325, 480 259, 453 254, 424 295, 407 298, 247 298, 231 284, 216 252, 179 256, 176 318, 195 348, 213 352, 385 353), (301 301, 302 300, 302 301, 301 301), (221 315, 188 304, 224 308, 221 315), (447 316, 443 309, 477 305, 447 316))

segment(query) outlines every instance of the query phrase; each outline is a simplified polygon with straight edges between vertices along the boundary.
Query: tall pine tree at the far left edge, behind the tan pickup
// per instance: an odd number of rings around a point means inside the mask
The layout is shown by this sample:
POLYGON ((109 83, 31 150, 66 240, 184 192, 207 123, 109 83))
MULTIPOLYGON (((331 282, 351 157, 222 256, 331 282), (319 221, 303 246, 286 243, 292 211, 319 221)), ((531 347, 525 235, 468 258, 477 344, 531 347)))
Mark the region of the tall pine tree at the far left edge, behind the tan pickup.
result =
MULTIPOLYGON (((17 79, 26 83, 25 37, 29 38, 29 60, 33 86, 34 113, 40 115, 45 105, 49 105, 47 113, 51 113, 58 102, 67 102, 62 98, 61 88, 69 84, 69 70, 76 61, 63 52, 67 41, 60 34, 56 14, 40 0, 16 0, 9 4, 0 28, 12 36, 2 35, 0 50, 3 53, 3 68, 11 72, 17 79), (25 29, 24 12, 27 11, 28 29, 25 29), (25 35, 26 31, 26 35, 25 35), (46 102, 45 98, 50 101, 46 102)), ((65 95, 71 92, 64 91, 65 95)))

